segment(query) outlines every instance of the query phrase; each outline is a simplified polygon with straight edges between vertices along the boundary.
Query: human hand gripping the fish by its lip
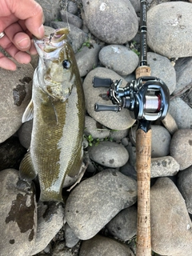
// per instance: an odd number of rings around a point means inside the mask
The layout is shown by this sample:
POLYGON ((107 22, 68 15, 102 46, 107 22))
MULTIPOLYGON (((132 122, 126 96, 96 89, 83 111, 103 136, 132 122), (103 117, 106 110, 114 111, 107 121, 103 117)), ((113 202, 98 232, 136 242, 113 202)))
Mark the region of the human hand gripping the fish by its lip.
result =
MULTIPOLYGON (((30 54, 36 54, 32 34, 43 37, 42 22, 42 7, 34 0, 0 0, 0 33, 5 33, 0 38, 0 46, 17 62, 29 63, 30 54)), ((15 63, 1 52, 0 67, 16 70, 15 63)))

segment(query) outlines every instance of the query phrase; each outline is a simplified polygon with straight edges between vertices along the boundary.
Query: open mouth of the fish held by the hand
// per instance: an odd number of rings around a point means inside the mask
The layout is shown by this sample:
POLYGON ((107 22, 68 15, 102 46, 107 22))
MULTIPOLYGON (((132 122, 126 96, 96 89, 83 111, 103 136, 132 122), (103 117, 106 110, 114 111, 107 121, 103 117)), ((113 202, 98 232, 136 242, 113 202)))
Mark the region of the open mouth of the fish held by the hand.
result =
MULTIPOLYGON (((53 52, 62 47, 66 42, 67 35, 70 33, 68 28, 54 30, 53 33, 45 35, 42 39, 34 38, 34 44, 45 53, 53 52)), ((37 47, 36 47, 37 48, 37 47)), ((38 49, 37 49, 38 50, 38 49)))

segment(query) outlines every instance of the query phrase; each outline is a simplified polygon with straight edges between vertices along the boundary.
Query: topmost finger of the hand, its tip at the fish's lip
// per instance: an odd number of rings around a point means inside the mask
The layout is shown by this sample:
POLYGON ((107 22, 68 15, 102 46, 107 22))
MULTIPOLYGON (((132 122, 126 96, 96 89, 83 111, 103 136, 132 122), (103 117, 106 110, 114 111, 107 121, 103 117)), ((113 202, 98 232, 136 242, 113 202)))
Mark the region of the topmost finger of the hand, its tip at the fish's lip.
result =
POLYGON ((14 15, 25 20, 25 25, 31 34, 37 38, 44 35, 42 7, 34 0, 19 0, 13 3, 14 15))

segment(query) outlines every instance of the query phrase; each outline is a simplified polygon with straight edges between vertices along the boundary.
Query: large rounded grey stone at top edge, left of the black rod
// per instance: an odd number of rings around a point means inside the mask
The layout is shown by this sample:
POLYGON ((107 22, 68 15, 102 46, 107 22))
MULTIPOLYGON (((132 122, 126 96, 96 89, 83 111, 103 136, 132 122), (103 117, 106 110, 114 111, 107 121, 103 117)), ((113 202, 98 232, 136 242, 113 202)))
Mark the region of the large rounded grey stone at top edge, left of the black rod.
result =
POLYGON ((96 38, 110 44, 123 44, 137 34, 138 18, 130 1, 82 0, 82 4, 86 26, 96 38))

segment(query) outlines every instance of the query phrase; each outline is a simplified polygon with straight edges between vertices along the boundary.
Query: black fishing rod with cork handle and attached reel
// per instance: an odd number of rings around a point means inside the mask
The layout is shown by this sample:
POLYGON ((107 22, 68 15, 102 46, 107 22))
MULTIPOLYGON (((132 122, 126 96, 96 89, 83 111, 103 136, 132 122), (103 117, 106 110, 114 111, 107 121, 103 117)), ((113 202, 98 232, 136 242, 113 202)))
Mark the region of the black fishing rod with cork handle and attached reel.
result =
POLYGON ((114 105, 95 103, 95 111, 130 110, 138 121, 136 131, 136 170, 138 182, 137 256, 151 255, 150 234, 150 123, 166 117, 170 92, 160 78, 150 76, 147 66, 146 0, 140 1, 140 62, 136 79, 122 88, 122 79, 113 82, 110 78, 93 78, 94 87, 107 87, 107 95, 114 105))

